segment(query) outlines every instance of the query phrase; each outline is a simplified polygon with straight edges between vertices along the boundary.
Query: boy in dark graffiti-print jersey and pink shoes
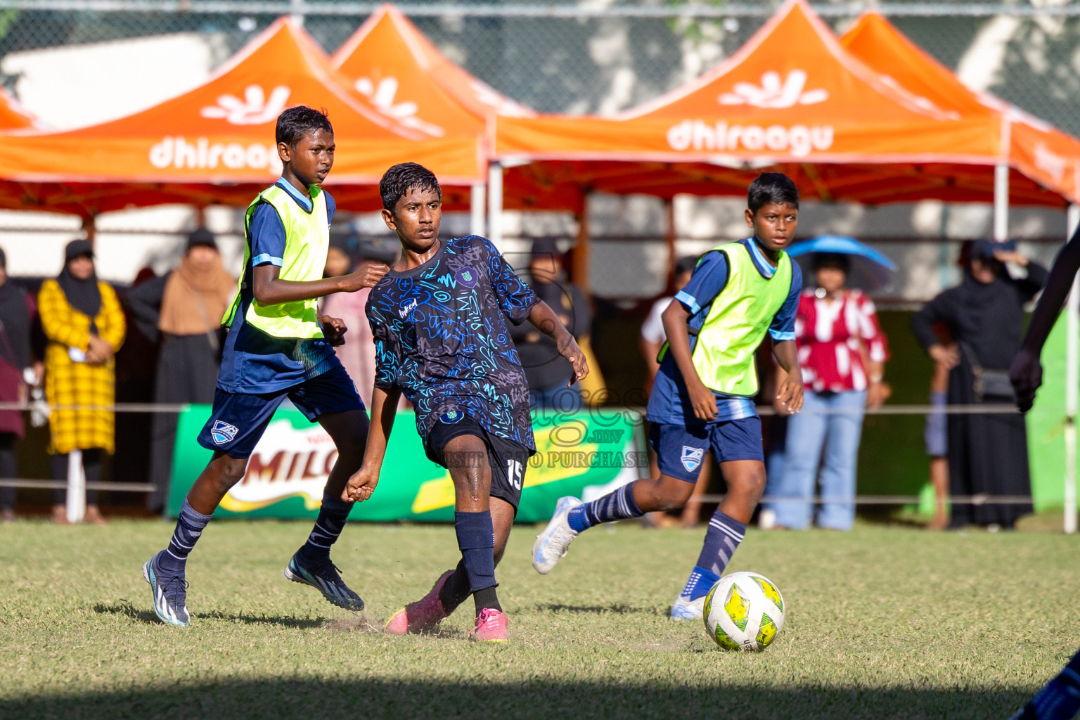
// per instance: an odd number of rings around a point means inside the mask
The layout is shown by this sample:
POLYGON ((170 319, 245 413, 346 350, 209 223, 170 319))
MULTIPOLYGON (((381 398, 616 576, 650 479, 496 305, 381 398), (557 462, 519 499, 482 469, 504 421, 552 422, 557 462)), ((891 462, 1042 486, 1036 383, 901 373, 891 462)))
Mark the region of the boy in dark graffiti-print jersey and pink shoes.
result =
POLYGON ((558 316, 514 275, 490 242, 475 235, 438 240, 442 191, 430 171, 416 163, 394 165, 382 176, 379 192, 387 227, 401 240, 402 259, 367 300, 376 354, 373 426, 364 463, 342 499, 364 501, 375 490, 404 393, 416 408, 428 457, 450 471, 461 561, 427 596, 394 613, 386 631, 431 629, 472 594, 476 624, 470 638, 505 642, 495 566, 517 512, 528 458, 536 452, 528 383, 507 322, 529 321, 551 336, 573 366, 571 384, 589 367, 558 316))

